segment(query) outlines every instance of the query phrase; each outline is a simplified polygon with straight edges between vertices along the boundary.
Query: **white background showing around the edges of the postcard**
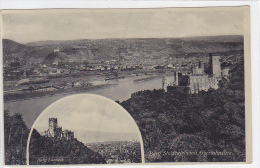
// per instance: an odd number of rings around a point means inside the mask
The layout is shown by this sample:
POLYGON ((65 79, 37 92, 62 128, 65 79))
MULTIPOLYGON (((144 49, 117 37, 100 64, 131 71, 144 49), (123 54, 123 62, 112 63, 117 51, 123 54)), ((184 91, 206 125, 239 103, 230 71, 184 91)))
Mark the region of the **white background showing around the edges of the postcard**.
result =
MULTIPOLYGON (((144 166, 115 166, 113 167, 176 167, 181 166, 182 168, 191 168, 191 167, 223 167, 223 168, 259 168, 260 167, 260 139, 259 139, 259 130, 260 130, 260 115, 259 115, 259 104, 260 104, 260 91, 259 91, 259 1, 82 1, 82 0, 0 0, 0 9, 39 9, 39 8, 160 8, 160 7, 202 7, 202 6, 240 6, 240 5, 249 5, 251 8, 251 79, 252 79, 252 125, 253 125, 253 162, 252 164, 202 164, 202 165, 144 165, 144 166)), ((0 24, 1 25, 1 24, 0 24)), ((0 42, 1 44, 1 42, 0 42)), ((2 49, 1 49, 2 50, 2 49)), ((2 51, 1 51, 2 52, 2 51)), ((2 67, 0 68, 0 74, 2 74, 2 67)), ((2 82, 0 83, 0 91, 2 93, 2 82)), ((2 96, 0 97, 0 110, 2 107, 2 96)), ((2 111, 2 110, 1 110, 2 111)), ((0 115, 0 121, 3 121, 3 115, 0 115)), ((0 135, 2 135, 3 124, 1 124, 0 135)), ((3 144, 3 137, 1 136, 1 145, 3 144)), ((1 148, 2 149, 2 146, 1 148)), ((2 167, 2 150, 0 153, 0 165, 2 167)), ((12 167, 12 166, 5 166, 12 167)), ((15 166, 17 167, 17 166, 15 166)), ((24 167, 24 166, 18 166, 24 167)), ((79 168, 85 166, 77 166, 79 168)), ((94 167, 94 166, 88 166, 94 167)), ((101 166, 95 166, 101 167, 101 166)), ((104 167, 104 166, 102 166, 104 167)), ((108 166, 111 167, 111 166, 108 166)))

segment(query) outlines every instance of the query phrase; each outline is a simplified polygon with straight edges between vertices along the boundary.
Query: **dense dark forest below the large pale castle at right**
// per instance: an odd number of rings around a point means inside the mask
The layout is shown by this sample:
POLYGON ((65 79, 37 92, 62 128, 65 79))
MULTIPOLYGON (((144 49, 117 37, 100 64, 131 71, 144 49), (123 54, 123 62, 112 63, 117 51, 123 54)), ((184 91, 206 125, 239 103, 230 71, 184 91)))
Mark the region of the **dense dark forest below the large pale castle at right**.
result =
POLYGON ((139 126, 146 162, 245 161, 243 65, 217 90, 146 90, 120 103, 139 126))

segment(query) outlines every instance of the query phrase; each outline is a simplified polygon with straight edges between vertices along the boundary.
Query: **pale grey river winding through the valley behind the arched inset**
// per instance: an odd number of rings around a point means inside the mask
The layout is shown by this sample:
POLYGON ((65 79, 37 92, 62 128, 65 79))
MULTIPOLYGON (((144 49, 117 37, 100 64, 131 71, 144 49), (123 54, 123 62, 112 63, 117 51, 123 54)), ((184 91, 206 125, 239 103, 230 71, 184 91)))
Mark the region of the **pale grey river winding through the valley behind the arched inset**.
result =
MULTIPOLYGON (((131 97, 131 94, 141 90, 153 90, 162 88, 162 77, 153 78, 147 81, 141 80, 140 82, 135 82, 134 80, 146 78, 149 76, 133 76, 123 79, 114 80, 96 80, 93 85, 100 84, 116 84, 111 87, 102 88, 98 90, 86 91, 84 93, 98 94, 105 96, 112 100, 124 101, 131 97)), ((4 103, 4 108, 10 110, 10 114, 20 113, 22 114, 26 125, 30 128, 33 122, 37 119, 39 114, 51 105, 53 102, 72 95, 69 94, 59 94, 53 96, 45 96, 28 100, 19 100, 4 103)))

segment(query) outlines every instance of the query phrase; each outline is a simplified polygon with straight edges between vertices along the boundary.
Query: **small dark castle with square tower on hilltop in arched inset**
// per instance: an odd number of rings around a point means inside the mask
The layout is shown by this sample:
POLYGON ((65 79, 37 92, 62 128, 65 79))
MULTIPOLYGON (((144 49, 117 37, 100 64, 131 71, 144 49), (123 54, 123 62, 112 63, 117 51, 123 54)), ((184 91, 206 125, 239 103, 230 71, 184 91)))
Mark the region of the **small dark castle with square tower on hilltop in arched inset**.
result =
POLYGON ((69 130, 62 131, 62 127, 58 127, 57 118, 49 118, 49 129, 41 133, 42 136, 64 138, 66 140, 74 139, 74 132, 69 130))

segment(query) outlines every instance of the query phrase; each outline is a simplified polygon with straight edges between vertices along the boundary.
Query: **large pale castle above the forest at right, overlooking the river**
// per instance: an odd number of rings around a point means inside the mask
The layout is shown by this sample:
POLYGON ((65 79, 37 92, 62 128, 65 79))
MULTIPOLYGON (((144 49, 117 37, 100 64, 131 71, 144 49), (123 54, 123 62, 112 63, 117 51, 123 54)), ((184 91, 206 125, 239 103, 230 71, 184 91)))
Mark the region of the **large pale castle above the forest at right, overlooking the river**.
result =
POLYGON ((202 62, 192 68, 192 74, 183 75, 175 72, 173 76, 163 79, 163 89, 167 91, 168 86, 186 86, 189 87, 190 94, 197 94, 199 91, 208 91, 210 88, 218 89, 218 83, 222 77, 227 77, 229 68, 221 68, 219 54, 209 54, 209 66, 207 73, 202 62))

